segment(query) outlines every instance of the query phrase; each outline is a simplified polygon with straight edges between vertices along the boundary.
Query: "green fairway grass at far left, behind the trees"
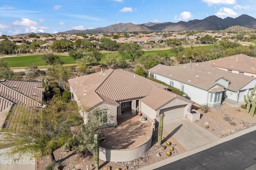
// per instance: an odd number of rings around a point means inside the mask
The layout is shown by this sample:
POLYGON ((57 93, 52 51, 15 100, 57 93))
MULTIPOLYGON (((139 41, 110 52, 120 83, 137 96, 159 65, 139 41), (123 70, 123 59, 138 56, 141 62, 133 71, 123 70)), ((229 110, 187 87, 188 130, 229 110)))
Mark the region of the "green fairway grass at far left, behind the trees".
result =
MULTIPOLYGON (((42 59, 43 55, 32 55, 32 56, 23 56, 23 57, 8 57, 3 58, 4 61, 8 63, 8 67, 26 67, 26 66, 44 66, 45 63, 42 59)), ((65 64, 74 64, 75 60, 71 59, 68 56, 59 55, 60 59, 66 61, 65 64)))

